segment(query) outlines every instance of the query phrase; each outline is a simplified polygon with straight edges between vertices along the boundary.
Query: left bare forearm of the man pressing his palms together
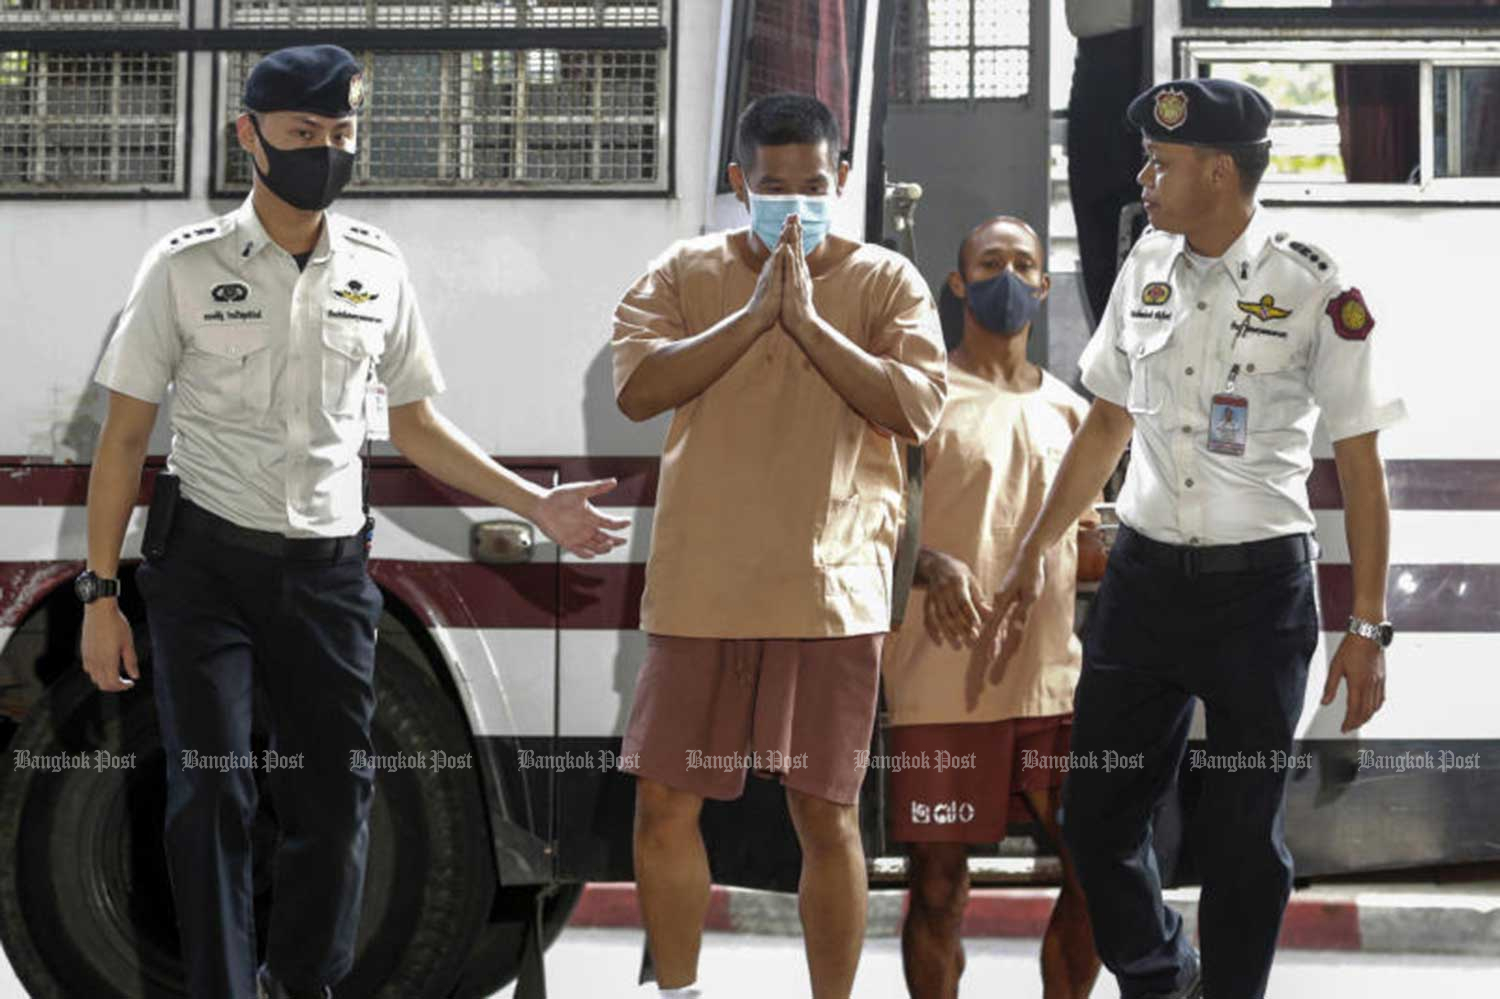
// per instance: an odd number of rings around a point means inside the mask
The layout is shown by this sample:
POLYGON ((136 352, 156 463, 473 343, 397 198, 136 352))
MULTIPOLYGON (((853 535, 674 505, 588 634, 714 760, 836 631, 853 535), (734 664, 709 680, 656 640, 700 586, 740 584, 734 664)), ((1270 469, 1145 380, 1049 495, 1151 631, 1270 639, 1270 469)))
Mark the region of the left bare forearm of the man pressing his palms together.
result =
POLYGON ((702 333, 664 344, 642 360, 620 390, 620 411, 632 420, 650 420, 718 381, 776 322, 784 262, 786 254, 777 246, 760 268, 750 302, 702 333))

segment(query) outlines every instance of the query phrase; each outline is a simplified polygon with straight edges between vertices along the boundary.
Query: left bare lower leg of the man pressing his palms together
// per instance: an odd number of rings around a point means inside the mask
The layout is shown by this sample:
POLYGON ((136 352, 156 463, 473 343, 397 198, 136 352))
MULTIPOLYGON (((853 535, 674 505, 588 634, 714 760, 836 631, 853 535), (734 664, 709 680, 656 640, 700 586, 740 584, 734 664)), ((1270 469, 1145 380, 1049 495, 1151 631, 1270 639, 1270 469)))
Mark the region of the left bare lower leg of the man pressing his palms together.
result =
POLYGON ((636 782, 636 892, 662 988, 698 980, 708 916, 708 852, 698 816, 704 800, 645 777, 636 782))

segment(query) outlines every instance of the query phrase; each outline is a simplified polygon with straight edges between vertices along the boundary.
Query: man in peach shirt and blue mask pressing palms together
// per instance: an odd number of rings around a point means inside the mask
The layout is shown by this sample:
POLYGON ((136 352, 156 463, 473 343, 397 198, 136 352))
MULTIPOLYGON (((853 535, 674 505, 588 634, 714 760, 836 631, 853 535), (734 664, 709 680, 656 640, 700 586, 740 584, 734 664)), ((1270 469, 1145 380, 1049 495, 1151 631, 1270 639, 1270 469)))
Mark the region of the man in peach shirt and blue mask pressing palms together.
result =
POLYGON ((729 166, 752 226, 678 243, 615 314, 620 408, 675 411, 624 740, 664 994, 699 994, 704 796, 744 786, 744 766, 724 780, 694 752, 747 753, 786 786, 814 999, 848 999, 864 939, 860 750, 891 614, 900 442, 936 426, 945 368, 916 268, 826 231, 849 172, 838 148, 813 98, 754 102, 729 166))

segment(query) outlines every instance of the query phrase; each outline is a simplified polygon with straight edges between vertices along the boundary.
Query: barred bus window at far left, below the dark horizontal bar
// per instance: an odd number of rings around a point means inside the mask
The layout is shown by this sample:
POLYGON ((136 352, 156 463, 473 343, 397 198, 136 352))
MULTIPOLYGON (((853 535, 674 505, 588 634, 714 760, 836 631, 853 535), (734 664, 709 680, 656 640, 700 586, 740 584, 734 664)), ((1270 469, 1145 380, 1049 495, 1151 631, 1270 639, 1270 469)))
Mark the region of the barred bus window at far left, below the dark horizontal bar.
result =
POLYGON ((182 60, 0 52, 0 192, 177 190, 182 60))

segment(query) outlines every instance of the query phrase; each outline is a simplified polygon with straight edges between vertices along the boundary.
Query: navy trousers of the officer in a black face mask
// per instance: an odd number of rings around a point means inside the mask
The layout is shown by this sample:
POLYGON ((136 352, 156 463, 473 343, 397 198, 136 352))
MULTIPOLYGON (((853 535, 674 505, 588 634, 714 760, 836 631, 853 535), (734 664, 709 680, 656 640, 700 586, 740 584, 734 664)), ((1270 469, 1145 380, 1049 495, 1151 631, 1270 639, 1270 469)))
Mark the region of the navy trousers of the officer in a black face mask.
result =
POLYGON ((363 548, 342 561, 294 561, 183 525, 168 548, 136 579, 152 633, 166 861, 189 992, 255 996, 255 776, 225 762, 250 759, 256 686, 270 705, 270 750, 300 762, 264 770, 280 826, 267 964, 291 988, 333 984, 354 962, 364 885, 375 782, 352 754, 372 752, 380 590, 363 548))

